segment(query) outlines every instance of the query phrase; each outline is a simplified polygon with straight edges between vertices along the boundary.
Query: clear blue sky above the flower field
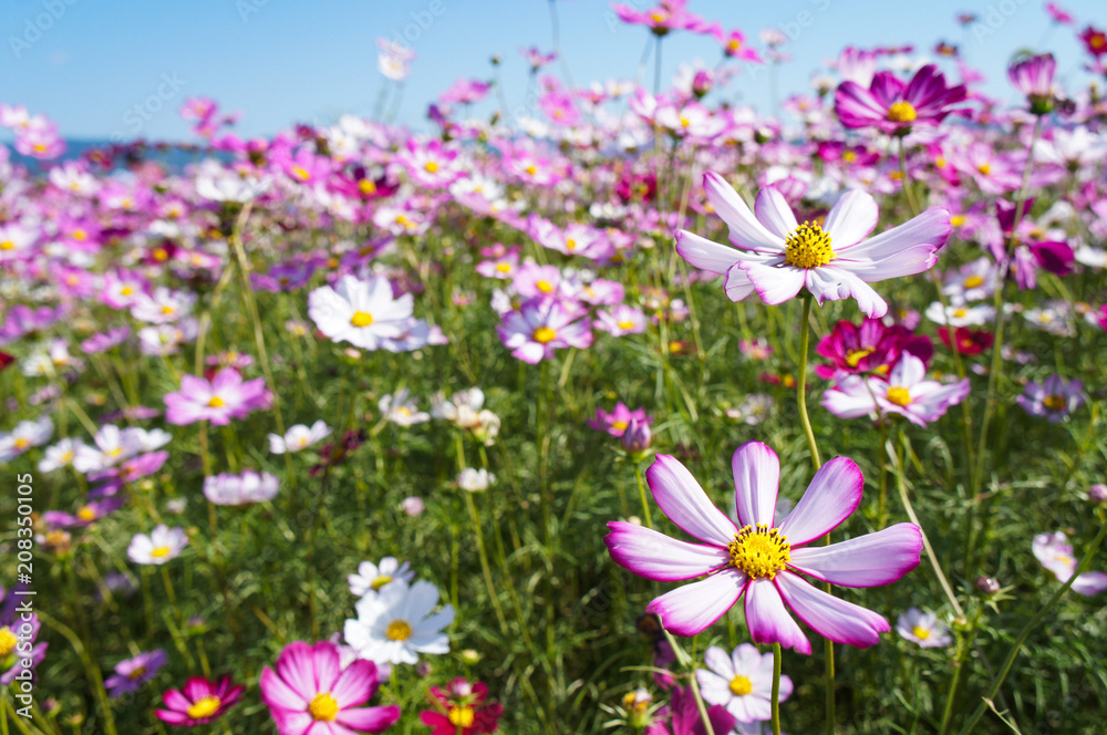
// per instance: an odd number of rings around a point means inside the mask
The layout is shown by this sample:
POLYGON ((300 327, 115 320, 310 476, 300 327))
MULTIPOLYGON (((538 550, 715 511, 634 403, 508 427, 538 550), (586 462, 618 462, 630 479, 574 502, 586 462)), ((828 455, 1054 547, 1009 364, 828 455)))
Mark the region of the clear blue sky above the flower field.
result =
MULTIPOLYGON (((629 0, 645 8, 646 0, 629 0)), ((209 95, 242 112, 238 130, 272 134, 290 124, 325 123, 342 112, 371 115, 383 79, 377 37, 403 33, 422 14, 428 28, 411 43, 417 58, 399 121, 425 126, 427 102, 461 75, 488 79, 499 54, 510 105, 523 101, 527 69, 520 46, 550 48, 548 0, 3 0, 0 19, 0 101, 25 104, 55 120, 70 138, 130 137, 125 115, 159 91, 169 99, 143 123, 148 138, 187 137, 176 113, 188 95, 209 95), (437 17, 430 12, 432 6, 437 17), (44 14, 54 9, 56 20, 44 14), (247 12, 249 11, 249 12, 247 12), (39 35, 30 24, 46 25, 39 35), (29 32, 30 30, 30 32, 29 32), (14 44, 12 39, 19 39, 14 44), (27 43, 25 39, 34 39, 27 43), (25 45, 24 45, 25 44, 25 45), (176 80, 177 86, 165 84, 176 80)), ((1101 0, 1068 0, 1079 23, 1107 23, 1101 0)), ((615 22, 601 0, 558 2, 561 45, 577 83, 633 77, 646 40, 641 27, 615 22)), ((1037 0, 897 2, 889 0, 691 0, 692 11, 741 28, 753 40, 766 27, 794 24, 793 61, 779 71, 784 93, 806 91, 810 72, 847 44, 914 43, 929 52, 939 40, 961 45, 989 77, 986 90, 1011 99, 1003 74, 1013 51, 1036 48, 1048 19, 1037 0), (994 32, 977 38, 954 17, 989 17, 994 32), (1004 11, 1006 14, 1004 14, 1004 11), (801 15, 801 13, 809 13, 801 15), (799 23, 808 21, 806 28, 799 23)), ((989 30, 993 30, 990 28, 989 30)), ((414 35, 414 33, 410 33, 414 35)), ((1078 71, 1078 41, 1057 28, 1044 48, 1058 56, 1069 82, 1078 71)), ((718 46, 689 33, 664 42, 668 80, 679 61, 713 64, 718 46)), ((651 62, 652 64, 652 62, 651 62)), ((651 71, 646 80, 652 80, 651 71)), ((744 101, 768 108, 767 75, 735 82, 744 101)), ((127 120, 135 120, 132 115, 127 120)))

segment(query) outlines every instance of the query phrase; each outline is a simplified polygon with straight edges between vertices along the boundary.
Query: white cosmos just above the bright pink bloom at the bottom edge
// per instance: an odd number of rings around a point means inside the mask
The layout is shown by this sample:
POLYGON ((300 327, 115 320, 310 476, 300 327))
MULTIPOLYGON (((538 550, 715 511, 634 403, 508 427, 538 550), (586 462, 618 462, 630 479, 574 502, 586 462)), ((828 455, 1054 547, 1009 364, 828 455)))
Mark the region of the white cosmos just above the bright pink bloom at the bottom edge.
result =
POLYGON ((346 620, 343 635, 361 659, 418 663, 420 653, 449 653, 443 629, 454 622, 454 608, 438 604, 438 588, 426 581, 385 584, 358 601, 358 619, 346 620))

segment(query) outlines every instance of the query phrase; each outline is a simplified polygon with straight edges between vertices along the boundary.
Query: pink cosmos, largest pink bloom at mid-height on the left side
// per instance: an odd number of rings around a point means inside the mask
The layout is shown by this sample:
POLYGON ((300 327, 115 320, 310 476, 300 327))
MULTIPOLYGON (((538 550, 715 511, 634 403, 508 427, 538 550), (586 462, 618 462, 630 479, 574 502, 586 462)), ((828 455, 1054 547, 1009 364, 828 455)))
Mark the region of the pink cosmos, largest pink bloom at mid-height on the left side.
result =
POLYGON ((165 420, 170 424, 209 421, 214 426, 226 426, 231 418, 268 408, 272 396, 266 389, 265 379, 242 381, 237 370, 224 368, 210 382, 196 375, 183 375, 180 390, 166 394, 164 401, 165 420))

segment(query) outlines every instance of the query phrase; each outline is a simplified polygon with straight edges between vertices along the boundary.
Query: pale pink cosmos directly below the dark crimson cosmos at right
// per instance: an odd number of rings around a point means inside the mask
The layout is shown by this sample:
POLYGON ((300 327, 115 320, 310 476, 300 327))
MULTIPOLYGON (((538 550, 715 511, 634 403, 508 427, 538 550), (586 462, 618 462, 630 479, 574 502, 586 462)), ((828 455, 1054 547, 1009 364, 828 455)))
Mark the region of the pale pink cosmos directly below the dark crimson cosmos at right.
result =
POLYGON ((927 365, 904 352, 888 380, 862 377, 839 371, 834 389, 823 394, 823 405, 839 418, 870 414, 899 414, 912 424, 925 426, 945 415, 969 395, 969 379, 943 384, 927 380, 927 365))

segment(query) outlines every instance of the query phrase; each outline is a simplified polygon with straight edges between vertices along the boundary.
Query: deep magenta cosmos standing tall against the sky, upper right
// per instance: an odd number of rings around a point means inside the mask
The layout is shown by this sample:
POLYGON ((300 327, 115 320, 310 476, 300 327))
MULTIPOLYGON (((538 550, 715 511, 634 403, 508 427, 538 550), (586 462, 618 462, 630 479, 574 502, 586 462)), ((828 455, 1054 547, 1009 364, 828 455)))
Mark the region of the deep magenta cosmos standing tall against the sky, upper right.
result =
POLYGON ((952 112, 950 105, 965 99, 965 86, 946 86, 945 76, 927 64, 910 82, 891 72, 872 76, 869 89, 842 82, 834 95, 838 120, 846 127, 877 127, 891 135, 906 135, 913 125, 937 125, 952 112))

